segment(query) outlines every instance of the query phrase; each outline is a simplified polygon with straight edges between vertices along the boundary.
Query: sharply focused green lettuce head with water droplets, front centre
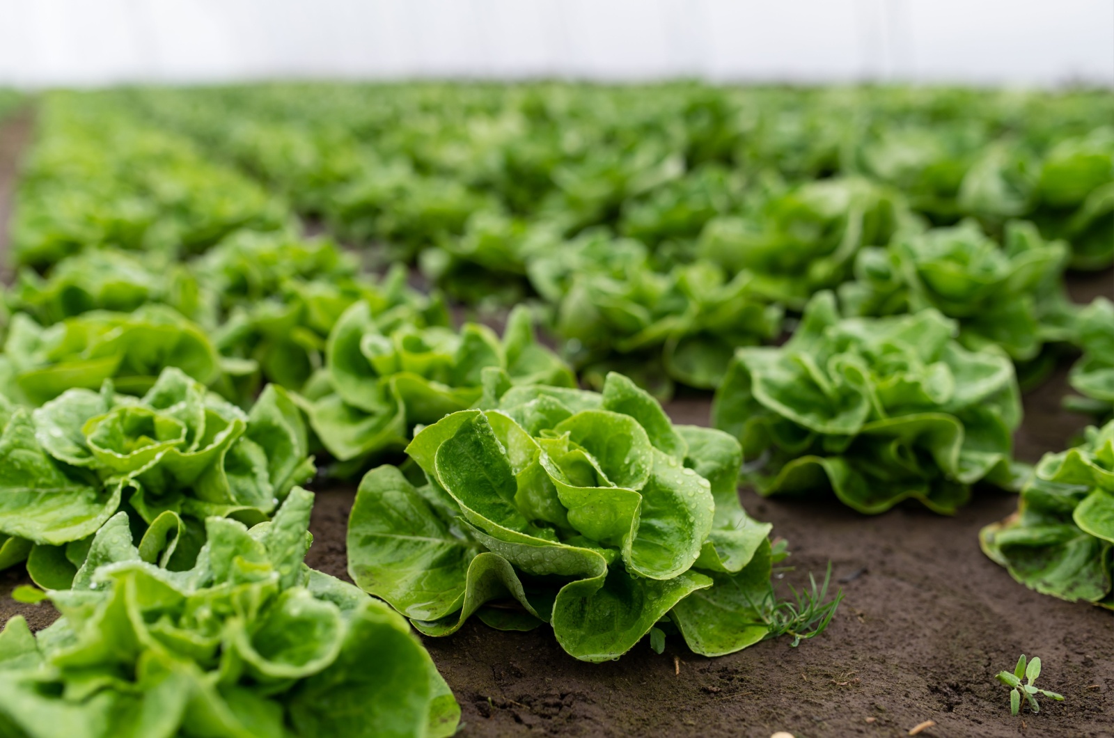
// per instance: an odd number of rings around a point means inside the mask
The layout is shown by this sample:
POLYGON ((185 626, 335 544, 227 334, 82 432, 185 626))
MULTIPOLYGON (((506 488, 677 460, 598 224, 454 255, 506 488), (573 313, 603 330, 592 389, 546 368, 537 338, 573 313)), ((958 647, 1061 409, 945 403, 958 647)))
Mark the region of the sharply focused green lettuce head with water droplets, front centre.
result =
POLYGON ((500 630, 549 623, 584 661, 620 657, 652 628, 703 656, 771 635, 771 526, 739 504, 739 444, 674 426, 629 379, 602 394, 511 386, 485 369, 479 408, 418 431, 400 469, 360 483, 349 571, 427 635, 476 614, 500 630))

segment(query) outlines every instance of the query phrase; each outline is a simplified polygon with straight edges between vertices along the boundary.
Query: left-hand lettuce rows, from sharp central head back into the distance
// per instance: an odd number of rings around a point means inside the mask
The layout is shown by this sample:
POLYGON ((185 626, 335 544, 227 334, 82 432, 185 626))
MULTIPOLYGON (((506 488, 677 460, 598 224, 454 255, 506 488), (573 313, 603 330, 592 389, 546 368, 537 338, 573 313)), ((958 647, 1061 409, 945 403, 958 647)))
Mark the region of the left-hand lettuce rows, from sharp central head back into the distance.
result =
POLYGON ((4 293, 0 567, 61 618, 0 633, 4 731, 451 735, 399 613, 430 635, 547 622, 587 661, 654 629, 715 656, 830 619, 775 616, 784 546, 739 505, 730 435, 619 375, 576 389, 525 309, 501 338, 452 329, 187 142, 55 99, 16 235, 75 183, 82 225, 4 293), (312 454, 353 476, 402 449, 360 485, 359 588, 307 567, 312 454))

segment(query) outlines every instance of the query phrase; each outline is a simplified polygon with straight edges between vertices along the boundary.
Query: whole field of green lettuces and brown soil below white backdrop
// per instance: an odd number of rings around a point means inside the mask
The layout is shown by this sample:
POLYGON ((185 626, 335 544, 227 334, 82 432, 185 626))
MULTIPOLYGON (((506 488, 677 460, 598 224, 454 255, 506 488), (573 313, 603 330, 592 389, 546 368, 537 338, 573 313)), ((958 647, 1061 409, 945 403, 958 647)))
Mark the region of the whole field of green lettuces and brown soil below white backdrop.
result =
POLYGON ((0 90, 0 736, 1114 731, 1108 90, 0 90))

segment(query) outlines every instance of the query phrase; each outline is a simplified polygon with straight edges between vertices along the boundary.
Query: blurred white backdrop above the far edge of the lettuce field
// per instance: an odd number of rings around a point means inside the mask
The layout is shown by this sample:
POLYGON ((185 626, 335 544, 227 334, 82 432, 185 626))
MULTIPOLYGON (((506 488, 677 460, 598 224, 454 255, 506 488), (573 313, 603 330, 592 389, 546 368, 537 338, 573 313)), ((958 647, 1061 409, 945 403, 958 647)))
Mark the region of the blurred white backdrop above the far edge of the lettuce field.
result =
POLYGON ((0 85, 418 76, 1114 86, 1114 0, 0 0, 0 85))

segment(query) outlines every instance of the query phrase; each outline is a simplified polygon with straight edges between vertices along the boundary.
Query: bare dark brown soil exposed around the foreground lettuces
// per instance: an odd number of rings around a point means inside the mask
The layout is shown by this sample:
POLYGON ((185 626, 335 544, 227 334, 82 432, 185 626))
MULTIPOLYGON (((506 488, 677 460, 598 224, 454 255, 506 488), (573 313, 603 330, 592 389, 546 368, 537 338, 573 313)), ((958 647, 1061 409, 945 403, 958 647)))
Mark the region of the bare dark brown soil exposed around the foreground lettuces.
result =
MULTIPOLYGON (((23 120, 0 127, 0 223, 14 142, 28 136, 23 120)), ((1114 272, 1074 275, 1069 287, 1081 302, 1114 297, 1114 272)), ((1065 373, 1026 397, 1017 434, 1024 459, 1062 448, 1086 425, 1059 409, 1065 373)), ((706 397, 668 409, 677 421, 707 423, 706 397)), ((345 577, 353 494, 319 492, 307 557, 345 577)), ((671 638, 661 656, 643 642, 617 662, 587 664, 547 629, 506 633, 473 619, 453 637, 427 639, 463 710, 461 735, 882 737, 934 720, 919 735, 1114 736, 1114 615, 1030 592, 979 551, 978 530, 1009 514, 1013 495, 979 491, 952 518, 913 506, 867 517, 832 499, 741 495, 790 542, 795 570, 786 582, 799 586, 831 561, 846 600, 824 634, 797 649, 768 641, 720 659, 693 656, 671 638), (1008 690, 994 674, 1023 652, 1042 658, 1042 684, 1067 699, 1010 717, 1008 690)), ((56 616, 49 604, 10 596, 27 581, 21 570, 0 572, 0 622, 21 613, 43 628, 56 616)))

